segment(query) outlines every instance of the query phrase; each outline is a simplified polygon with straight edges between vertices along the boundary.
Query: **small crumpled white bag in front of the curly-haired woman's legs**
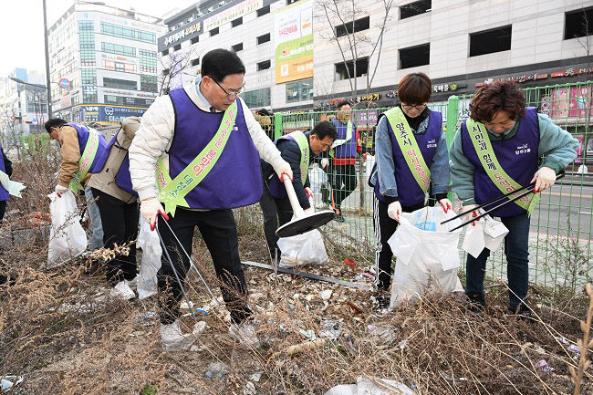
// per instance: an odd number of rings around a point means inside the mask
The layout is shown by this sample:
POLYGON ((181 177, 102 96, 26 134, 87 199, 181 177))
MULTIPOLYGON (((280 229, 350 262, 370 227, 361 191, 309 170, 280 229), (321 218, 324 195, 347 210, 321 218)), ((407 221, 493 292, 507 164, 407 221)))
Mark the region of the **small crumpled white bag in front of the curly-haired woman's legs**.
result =
POLYGON ((463 251, 474 258, 477 258, 484 248, 496 250, 508 234, 505 224, 494 220, 490 215, 485 215, 474 223, 475 226, 467 226, 462 245, 463 251))

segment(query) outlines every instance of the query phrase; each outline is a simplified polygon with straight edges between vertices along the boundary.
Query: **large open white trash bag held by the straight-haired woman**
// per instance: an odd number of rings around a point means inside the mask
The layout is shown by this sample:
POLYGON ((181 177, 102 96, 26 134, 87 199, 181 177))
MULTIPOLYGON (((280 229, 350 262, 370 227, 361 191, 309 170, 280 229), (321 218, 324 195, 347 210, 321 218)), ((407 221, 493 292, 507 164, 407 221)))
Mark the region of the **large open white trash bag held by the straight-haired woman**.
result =
POLYGON ((390 308, 414 300, 426 291, 463 291, 457 277, 460 266, 457 244, 462 229, 449 232, 461 220, 441 224, 455 215, 453 210, 444 213, 441 206, 401 214, 401 223, 388 240, 397 257, 390 308))

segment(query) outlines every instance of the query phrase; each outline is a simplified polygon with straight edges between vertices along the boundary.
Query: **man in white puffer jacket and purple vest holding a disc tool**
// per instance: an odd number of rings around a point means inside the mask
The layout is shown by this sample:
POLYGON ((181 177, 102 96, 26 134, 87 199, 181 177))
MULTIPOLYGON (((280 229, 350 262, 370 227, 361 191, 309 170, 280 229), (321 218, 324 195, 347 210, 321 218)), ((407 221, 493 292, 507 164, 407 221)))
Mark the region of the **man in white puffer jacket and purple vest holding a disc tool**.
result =
POLYGON ((252 313, 231 209, 261 198, 260 157, 278 176, 286 173, 292 179, 292 171, 238 97, 244 90, 244 72, 234 52, 208 52, 201 76, 152 103, 130 146, 131 182, 139 193, 140 213, 151 226, 159 223, 174 265, 163 259, 158 274, 159 289, 166 294, 160 311, 165 349, 187 349, 194 340, 179 327, 182 286, 174 275, 176 271, 184 283, 189 259, 180 254, 165 220, 190 254, 198 226, 231 313, 229 334, 244 345, 259 342, 249 320, 252 313))

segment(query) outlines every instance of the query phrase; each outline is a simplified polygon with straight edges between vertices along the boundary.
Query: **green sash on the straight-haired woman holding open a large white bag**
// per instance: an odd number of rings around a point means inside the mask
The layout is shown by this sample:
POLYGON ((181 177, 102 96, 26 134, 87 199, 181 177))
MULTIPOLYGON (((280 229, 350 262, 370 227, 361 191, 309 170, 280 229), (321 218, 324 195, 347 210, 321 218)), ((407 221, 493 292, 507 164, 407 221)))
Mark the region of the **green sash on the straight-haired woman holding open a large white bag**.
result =
POLYGON ((421 190, 424 193, 428 192, 428 187, 431 185, 431 171, 426 166, 418 141, 416 141, 406 117, 399 107, 388 110, 385 115, 390 122, 395 140, 398 141, 401 153, 406 163, 408 163, 411 174, 420 185, 421 190))

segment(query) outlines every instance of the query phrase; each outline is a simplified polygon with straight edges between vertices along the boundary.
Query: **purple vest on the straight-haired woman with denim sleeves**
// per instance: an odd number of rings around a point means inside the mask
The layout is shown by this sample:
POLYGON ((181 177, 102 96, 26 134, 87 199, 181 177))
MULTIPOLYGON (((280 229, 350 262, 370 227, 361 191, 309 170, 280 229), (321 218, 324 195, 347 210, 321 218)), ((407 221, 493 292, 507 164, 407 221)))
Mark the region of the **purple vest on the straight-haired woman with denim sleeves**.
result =
MULTIPOLYGON (((421 134, 414 133, 414 138, 418 142, 418 147, 424 158, 426 165, 431 167, 432 157, 436 153, 436 147, 441 139, 442 134, 442 115, 440 112, 432 111, 430 114, 428 128, 421 134)), ((401 152, 400 144, 398 140, 393 136, 393 130, 391 129, 390 122, 387 122, 387 130, 391 140, 391 152, 393 155, 393 164, 395 172, 395 183, 398 186, 398 200, 403 207, 409 207, 415 204, 424 203, 425 195, 421 190, 420 185, 411 173, 410 167, 403 157, 401 152)), ((375 166, 377 164, 375 163, 375 166)), ((382 202, 386 202, 386 199, 380 193, 379 177, 374 187, 375 196, 382 202)))

